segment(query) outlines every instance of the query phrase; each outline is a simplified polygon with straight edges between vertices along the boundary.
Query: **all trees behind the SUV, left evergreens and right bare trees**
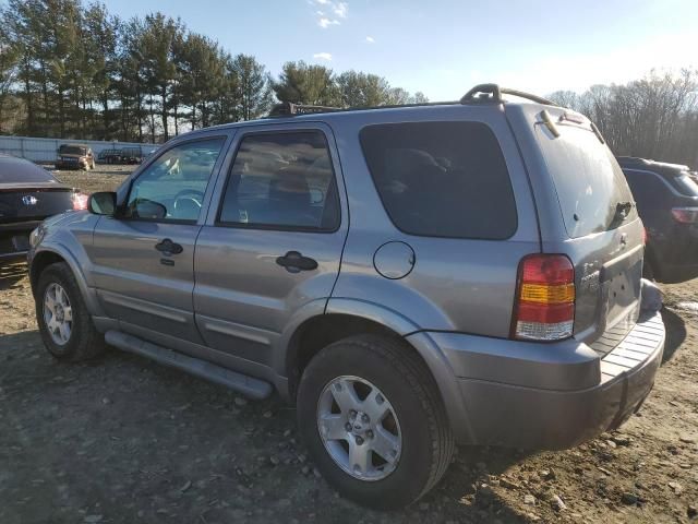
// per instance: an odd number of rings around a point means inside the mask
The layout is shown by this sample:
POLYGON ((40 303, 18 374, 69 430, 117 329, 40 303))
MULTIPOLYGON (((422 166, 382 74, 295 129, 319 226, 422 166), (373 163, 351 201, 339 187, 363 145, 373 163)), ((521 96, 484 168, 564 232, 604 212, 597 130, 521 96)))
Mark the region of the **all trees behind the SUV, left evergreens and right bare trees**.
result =
MULTIPOLYGON (((466 86, 464 86, 465 88, 466 86)), ((591 118, 617 155, 698 164, 698 73, 650 73, 550 98, 591 118)), ((428 102, 386 79, 287 62, 277 78, 160 12, 122 20, 103 3, 0 5, 0 133, 160 142, 265 116, 277 100, 335 107, 428 102)))

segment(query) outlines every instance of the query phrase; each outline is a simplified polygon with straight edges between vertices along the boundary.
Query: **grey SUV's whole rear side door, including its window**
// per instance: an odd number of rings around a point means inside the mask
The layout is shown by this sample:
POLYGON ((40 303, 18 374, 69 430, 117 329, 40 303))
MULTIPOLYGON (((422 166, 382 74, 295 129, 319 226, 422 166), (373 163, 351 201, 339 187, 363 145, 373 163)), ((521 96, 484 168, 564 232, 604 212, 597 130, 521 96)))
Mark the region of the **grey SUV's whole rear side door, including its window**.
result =
POLYGON ((332 294, 347 234, 344 184, 322 124, 242 132, 233 146, 220 209, 196 241, 196 324, 210 347, 272 366, 293 313, 332 294))

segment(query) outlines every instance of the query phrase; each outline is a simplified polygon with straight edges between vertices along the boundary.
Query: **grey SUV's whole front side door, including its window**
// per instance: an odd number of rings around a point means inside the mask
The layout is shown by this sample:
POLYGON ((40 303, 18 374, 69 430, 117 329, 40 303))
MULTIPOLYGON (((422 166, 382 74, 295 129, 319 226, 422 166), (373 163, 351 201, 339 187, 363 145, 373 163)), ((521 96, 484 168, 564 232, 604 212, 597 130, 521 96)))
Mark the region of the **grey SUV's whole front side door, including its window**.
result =
POLYGON ((125 332, 203 343, 194 322, 194 248, 230 134, 174 142, 139 172, 89 257, 107 314, 125 332))

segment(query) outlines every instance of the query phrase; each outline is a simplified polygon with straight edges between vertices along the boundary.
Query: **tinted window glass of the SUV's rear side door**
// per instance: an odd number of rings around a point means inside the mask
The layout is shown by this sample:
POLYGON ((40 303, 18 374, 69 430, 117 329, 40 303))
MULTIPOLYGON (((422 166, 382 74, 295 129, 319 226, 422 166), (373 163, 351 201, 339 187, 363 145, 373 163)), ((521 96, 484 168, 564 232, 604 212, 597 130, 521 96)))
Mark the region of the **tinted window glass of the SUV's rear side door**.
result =
POLYGON ((220 222, 248 227, 336 229, 339 204, 323 133, 244 138, 230 172, 220 222))

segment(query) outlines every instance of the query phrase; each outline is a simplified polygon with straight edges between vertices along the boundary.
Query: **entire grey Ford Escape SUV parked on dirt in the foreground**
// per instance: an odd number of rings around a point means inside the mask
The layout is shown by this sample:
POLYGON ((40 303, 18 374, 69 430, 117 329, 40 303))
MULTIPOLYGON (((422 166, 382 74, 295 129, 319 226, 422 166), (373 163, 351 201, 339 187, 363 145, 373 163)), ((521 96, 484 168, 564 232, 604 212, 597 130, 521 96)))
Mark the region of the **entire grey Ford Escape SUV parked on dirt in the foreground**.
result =
POLYGON ((429 491, 456 443, 554 450, 617 427, 664 346, 603 138, 494 84, 178 136, 31 243, 55 357, 106 341, 277 391, 325 478, 377 508, 429 491))

